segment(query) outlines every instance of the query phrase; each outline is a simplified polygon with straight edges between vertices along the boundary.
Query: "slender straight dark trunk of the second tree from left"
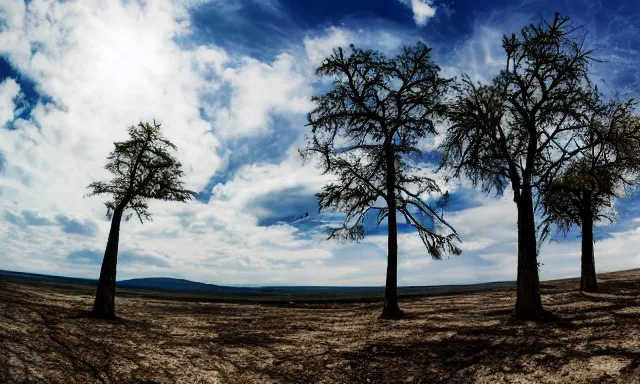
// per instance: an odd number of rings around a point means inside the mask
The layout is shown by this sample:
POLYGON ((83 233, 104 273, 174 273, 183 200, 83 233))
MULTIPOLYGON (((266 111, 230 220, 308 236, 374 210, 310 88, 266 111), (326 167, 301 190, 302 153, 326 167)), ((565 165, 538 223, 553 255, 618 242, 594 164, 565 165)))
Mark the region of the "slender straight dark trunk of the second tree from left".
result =
POLYGON ((387 281, 384 287, 384 309, 382 319, 398 319, 402 317, 402 311, 398 306, 398 223, 396 220, 395 199, 395 154, 393 150, 387 150, 387 206, 389 215, 387 222, 388 231, 388 257, 387 257, 387 281))

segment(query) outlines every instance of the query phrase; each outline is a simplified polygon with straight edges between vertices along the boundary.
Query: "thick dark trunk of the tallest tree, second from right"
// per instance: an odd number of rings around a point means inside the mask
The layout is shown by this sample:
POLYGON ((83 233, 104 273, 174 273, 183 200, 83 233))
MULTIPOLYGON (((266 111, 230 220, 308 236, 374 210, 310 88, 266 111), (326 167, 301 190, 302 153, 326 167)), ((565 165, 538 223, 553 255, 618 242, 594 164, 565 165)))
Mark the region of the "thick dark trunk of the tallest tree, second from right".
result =
POLYGON ((523 188, 518 205, 518 288, 515 317, 538 321, 543 316, 538 276, 535 217, 531 188, 523 188))

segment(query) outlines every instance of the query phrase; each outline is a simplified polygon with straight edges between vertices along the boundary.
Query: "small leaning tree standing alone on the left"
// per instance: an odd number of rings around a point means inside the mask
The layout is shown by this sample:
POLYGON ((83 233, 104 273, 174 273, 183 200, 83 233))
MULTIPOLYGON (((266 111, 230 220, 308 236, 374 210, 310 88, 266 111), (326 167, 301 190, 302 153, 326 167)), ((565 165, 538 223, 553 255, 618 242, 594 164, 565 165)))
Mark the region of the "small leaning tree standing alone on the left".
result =
POLYGON ((150 199, 187 201, 196 194, 183 188, 182 165, 171 154, 176 146, 160 133, 160 124, 140 122, 129 127, 127 141, 114 143, 106 169, 114 178, 108 182, 94 182, 88 188, 88 196, 108 194, 105 202, 111 229, 104 251, 100 279, 96 290, 92 315, 98 318, 115 318, 116 264, 120 222, 124 215, 128 220, 135 214, 141 223, 151 220, 147 202, 150 199), (128 215, 125 214, 129 212, 128 215))

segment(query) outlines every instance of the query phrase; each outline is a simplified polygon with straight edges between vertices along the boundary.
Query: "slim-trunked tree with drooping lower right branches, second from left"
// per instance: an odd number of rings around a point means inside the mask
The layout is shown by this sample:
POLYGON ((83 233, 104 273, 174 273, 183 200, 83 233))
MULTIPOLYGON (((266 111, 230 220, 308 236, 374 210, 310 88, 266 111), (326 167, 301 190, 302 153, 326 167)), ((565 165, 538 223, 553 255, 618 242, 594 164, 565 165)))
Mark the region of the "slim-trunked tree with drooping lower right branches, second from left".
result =
POLYGON ((378 225, 387 220, 386 319, 402 315, 397 212, 417 229, 432 257, 460 253, 456 232, 425 202, 440 189, 415 162, 419 140, 435 134, 433 119, 442 112, 440 98, 450 83, 438 76, 439 70, 430 48, 420 43, 392 58, 353 45, 349 53, 335 49, 316 70, 333 84, 312 98, 317 105, 308 115, 312 134, 301 153, 314 156, 325 174, 336 177, 318 194, 321 211, 346 214, 329 238, 362 239, 365 217, 372 212, 377 212, 378 225), (423 216, 433 218, 442 231, 426 225, 423 216))

